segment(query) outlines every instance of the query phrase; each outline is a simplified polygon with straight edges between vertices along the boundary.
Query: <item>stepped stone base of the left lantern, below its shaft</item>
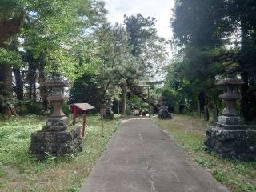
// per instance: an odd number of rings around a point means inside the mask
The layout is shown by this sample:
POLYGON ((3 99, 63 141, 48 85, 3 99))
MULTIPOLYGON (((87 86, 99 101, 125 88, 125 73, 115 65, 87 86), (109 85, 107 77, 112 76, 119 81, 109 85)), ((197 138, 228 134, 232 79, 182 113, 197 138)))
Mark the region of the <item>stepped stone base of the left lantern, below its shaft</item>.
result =
POLYGON ((50 118, 46 126, 31 134, 30 152, 38 160, 44 160, 46 153, 57 156, 76 154, 82 151, 81 128, 67 126, 67 118, 50 118))

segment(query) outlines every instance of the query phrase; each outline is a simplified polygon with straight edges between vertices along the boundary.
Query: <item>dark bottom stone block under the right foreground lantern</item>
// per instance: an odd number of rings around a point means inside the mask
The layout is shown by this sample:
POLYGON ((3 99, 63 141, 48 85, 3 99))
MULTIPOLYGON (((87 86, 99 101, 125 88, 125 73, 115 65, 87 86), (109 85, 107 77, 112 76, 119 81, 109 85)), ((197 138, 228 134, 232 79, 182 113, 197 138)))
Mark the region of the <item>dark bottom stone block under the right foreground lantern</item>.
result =
POLYGON ((226 130, 207 126, 206 150, 214 151, 222 158, 244 161, 256 159, 256 130, 226 130))

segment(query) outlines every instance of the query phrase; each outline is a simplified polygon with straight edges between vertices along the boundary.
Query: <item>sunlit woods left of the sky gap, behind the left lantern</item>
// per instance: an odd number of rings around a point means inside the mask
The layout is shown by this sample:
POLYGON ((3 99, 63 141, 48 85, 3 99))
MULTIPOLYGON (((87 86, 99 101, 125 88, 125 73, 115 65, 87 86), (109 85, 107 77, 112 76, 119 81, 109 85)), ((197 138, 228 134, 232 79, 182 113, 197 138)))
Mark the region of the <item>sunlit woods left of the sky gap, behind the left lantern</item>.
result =
POLYGON ((106 96, 118 101, 126 89, 158 107, 137 87, 166 64, 166 40, 158 37, 155 18, 124 16, 123 26, 111 26, 104 2, 88 0, 3 1, 1 9, 5 118, 49 110, 42 85, 56 71, 73 85, 69 102, 90 102, 99 109, 106 96))

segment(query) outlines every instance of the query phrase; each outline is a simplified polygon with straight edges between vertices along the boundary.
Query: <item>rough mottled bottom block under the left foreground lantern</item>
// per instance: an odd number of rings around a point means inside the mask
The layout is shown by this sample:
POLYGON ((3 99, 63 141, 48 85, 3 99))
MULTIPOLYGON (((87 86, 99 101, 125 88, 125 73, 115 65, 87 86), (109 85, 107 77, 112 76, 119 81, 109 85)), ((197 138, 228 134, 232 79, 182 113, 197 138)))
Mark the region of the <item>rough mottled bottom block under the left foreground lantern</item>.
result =
POLYGON ((70 131, 39 130, 31 134, 30 152, 38 160, 44 160, 46 153, 57 156, 75 154, 82 151, 81 129, 70 131))

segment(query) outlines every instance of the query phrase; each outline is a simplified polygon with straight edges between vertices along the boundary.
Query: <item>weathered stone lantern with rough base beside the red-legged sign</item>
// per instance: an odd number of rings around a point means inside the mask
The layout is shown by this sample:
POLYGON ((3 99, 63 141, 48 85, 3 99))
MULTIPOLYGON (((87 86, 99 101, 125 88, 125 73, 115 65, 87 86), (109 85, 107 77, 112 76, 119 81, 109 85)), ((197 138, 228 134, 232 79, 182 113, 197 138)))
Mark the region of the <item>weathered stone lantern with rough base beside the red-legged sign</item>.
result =
POLYGON ((46 154, 66 155, 82 150, 81 128, 69 126, 69 121, 63 113, 62 106, 66 100, 64 88, 69 84, 62 81, 60 74, 54 74, 53 79, 45 85, 50 90, 50 101, 53 113, 46 120, 46 126, 31 134, 30 152, 39 160, 46 158, 46 154))

